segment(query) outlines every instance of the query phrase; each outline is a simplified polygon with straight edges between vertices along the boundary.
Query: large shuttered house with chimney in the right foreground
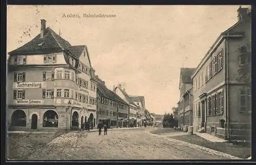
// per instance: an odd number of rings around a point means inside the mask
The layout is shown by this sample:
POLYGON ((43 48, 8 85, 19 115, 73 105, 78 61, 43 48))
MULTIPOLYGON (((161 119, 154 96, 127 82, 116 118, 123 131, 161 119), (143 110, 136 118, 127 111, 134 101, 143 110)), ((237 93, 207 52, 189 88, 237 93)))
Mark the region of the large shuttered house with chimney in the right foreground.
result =
POLYGON ((250 44, 250 9, 239 8, 238 22, 221 33, 191 76, 195 131, 250 141, 251 89, 237 79, 239 69, 250 63, 238 49, 251 49, 250 44))

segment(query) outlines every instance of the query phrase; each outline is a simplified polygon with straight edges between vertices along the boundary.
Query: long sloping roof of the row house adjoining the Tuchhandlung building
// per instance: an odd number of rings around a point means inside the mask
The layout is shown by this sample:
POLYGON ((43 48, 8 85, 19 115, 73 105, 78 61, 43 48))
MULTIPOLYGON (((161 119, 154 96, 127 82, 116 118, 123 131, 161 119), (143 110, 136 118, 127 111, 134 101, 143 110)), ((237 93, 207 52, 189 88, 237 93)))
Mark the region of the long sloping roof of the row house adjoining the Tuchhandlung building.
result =
POLYGON ((106 88, 106 86, 103 84, 103 81, 99 77, 94 77, 93 79, 98 82, 98 84, 97 84, 97 92, 99 92, 101 95, 103 95, 106 98, 109 98, 109 99, 112 99, 114 101, 117 101, 119 103, 128 105, 117 94, 115 94, 113 91, 111 91, 108 88, 106 88))

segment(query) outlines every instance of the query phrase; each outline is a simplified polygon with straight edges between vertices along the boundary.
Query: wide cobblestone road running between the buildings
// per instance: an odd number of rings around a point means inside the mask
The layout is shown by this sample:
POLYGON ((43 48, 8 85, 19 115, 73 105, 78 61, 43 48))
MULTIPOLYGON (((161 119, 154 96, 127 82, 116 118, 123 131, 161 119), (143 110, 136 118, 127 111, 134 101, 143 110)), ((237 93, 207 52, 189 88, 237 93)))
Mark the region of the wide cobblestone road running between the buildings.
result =
POLYGON ((147 133, 152 129, 109 130, 108 135, 100 136, 98 132, 69 132, 34 152, 29 159, 227 159, 147 133))

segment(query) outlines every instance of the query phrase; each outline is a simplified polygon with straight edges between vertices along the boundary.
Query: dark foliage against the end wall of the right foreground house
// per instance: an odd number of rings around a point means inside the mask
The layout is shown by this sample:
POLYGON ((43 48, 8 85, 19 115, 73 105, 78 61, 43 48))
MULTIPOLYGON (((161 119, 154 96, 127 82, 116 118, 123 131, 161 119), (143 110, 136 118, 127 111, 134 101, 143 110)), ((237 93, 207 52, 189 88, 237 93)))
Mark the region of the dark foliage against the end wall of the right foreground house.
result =
POLYGON ((251 87, 251 44, 240 46, 237 50, 238 60, 241 61, 238 69, 237 80, 251 87))

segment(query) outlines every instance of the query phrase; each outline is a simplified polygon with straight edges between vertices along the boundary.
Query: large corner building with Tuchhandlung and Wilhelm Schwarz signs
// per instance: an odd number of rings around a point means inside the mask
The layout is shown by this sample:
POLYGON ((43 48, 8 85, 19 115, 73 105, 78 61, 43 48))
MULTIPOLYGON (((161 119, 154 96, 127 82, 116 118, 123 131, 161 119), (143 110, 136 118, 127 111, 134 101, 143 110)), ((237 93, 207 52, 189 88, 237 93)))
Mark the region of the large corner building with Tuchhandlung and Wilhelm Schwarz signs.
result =
POLYGON ((9 55, 8 129, 95 125, 96 85, 85 45, 72 46, 42 19, 40 34, 9 55))

